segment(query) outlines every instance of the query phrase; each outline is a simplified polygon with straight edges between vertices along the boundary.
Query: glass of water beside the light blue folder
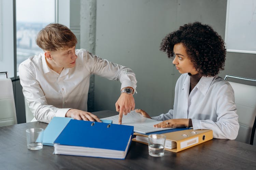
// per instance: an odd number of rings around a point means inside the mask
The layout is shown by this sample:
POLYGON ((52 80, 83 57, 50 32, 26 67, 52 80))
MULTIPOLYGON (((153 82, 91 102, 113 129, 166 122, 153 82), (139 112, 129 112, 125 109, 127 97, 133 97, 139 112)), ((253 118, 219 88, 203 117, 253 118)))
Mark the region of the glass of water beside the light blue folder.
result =
POLYGON ((30 150, 39 150, 43 148, 43 132, 42 128, 30 128, 26 130, 27 145, 30 150))

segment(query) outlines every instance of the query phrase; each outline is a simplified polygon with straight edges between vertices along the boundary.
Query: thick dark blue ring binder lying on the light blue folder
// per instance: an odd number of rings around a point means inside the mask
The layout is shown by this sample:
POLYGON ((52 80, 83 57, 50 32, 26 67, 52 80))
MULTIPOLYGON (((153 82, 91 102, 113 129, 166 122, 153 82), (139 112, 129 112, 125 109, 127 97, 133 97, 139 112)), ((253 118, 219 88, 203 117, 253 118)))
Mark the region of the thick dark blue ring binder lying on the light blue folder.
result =
POLYGON ((133 126, 70 120, 54 141, 54 154, 125 159, 132 136, 133 126))

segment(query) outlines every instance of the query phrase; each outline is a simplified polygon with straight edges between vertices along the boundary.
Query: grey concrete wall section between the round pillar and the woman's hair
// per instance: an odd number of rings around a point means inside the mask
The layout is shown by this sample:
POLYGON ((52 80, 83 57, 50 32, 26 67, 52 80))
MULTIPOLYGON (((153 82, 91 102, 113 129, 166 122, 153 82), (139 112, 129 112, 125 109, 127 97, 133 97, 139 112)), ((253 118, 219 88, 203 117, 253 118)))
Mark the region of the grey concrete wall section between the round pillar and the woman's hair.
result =
MULTIPOLYGON (((177 72, 159 46, 176 28, 176 11, 177 1, 170 0, 97 0, 96 54, 136 73, 136 108, 150 115, 173 105, 177 72)), ((95 111, 115 110, 119 95, 119 82, 95 77, 95 111)))

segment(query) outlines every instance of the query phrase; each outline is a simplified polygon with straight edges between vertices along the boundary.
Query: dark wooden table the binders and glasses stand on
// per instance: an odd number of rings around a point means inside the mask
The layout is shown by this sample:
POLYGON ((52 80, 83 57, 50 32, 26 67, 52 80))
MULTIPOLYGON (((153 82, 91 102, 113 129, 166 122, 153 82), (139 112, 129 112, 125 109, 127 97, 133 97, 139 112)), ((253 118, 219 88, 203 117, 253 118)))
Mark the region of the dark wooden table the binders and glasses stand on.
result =
MULTIPOLYGON (((94 114, 103 118, 118 113, 94 114)), ((125 160, 54 155, 52 146, 27 149, 25 130, 46 126, 30 122, 0 127, 0 169, 256 169, 256 146, 227 139, 212 139, 178 153, 165 151, 163 157, 148 155, 147 145, 132 141, 125 160)))

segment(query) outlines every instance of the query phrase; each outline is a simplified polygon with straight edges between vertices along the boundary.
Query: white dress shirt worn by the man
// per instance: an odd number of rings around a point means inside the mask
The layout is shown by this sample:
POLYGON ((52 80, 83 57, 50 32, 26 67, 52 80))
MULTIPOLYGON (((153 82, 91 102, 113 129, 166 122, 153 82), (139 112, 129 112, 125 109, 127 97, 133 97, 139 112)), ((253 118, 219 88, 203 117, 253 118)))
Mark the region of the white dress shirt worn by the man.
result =
POLYGON ((65 117, 71 108, 87 111, 91 74, 119 80, 121 89, 136 89, 137 81, 131 69, 103 60, 85 49, 75 53, 75 67, 64 68, 60 74, 48 67, 43 53, 19 65, 24 97, 38 121, 48 123, 53 117, 65 117))

